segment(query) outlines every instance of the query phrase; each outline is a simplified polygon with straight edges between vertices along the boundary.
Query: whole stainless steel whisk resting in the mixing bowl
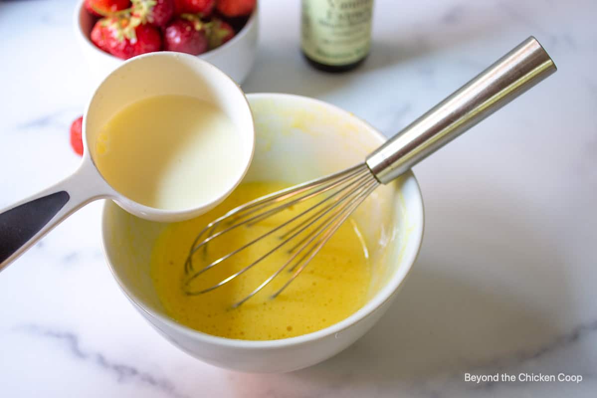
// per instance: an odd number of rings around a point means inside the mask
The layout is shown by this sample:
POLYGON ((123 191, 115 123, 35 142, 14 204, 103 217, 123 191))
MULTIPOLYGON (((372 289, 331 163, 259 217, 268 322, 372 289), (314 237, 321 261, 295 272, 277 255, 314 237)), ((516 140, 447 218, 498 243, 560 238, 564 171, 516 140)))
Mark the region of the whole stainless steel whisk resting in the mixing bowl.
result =
POLYGON ((257 266, 274 252, 285 250, 289 254, 288 260, 247 297, 233 304, 233 307, 238 307, 253 297, 282 271, 294 271, 287 282, 272 295, 277 297, 379 184, 394 180, 555 71, 556 66, 549 55, 531 36, 390 138, 367 156, 364 163, 263 196, 227 212, 208 224, 193 242, 184 264, 184 292, 198 295, 212 291, 257 266), (226 237, 239 227, 270 219, 294 206, 302 207, 288 220, 273 225, 261 236, 233 248, 201 269, 193 267, 193 257, 207 251, 208 243, 214 239, 226 237), (276 240, 271 241, 271 247, 267 246, 268 249, 263 254, 244 268, 208 288, 193 288, 193 282, 205 271, 223 261, 230 261, 239 252, 271 237, 276 237, 276 240))

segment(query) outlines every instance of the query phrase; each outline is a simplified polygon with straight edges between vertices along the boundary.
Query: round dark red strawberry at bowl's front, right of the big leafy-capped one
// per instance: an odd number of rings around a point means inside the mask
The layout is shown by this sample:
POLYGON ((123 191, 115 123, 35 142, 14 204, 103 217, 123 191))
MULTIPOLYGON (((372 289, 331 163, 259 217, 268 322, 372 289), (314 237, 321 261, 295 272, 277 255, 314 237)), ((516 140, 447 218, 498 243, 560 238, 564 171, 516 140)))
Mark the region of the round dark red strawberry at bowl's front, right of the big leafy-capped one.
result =
POLYGON ((209 47, 205 24, 198 17, 188 14, 176 18, 164 32, 164 47, 166 51, 179 53, 205 53, 209 47))

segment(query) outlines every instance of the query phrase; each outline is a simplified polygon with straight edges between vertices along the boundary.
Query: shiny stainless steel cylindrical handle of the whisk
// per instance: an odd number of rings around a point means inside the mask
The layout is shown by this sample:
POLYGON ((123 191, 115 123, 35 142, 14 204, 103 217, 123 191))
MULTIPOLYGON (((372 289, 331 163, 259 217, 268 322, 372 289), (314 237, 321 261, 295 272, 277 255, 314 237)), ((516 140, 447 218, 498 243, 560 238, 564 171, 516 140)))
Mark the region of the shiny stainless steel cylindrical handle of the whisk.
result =
POLYGON ((387 184, 555 71, 531 36, 367 156, 367 165, 387 184))

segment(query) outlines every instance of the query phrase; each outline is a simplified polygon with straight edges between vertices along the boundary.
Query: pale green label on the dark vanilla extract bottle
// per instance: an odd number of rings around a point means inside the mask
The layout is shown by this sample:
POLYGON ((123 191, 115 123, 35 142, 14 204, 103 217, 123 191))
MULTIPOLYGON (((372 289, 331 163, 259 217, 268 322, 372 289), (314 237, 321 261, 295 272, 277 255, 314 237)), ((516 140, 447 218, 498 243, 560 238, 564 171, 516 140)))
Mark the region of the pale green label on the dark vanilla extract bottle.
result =
POLYGON ((303 52, 327 65, 355 63, 369 53, 373 0, 303 0, 303 52))

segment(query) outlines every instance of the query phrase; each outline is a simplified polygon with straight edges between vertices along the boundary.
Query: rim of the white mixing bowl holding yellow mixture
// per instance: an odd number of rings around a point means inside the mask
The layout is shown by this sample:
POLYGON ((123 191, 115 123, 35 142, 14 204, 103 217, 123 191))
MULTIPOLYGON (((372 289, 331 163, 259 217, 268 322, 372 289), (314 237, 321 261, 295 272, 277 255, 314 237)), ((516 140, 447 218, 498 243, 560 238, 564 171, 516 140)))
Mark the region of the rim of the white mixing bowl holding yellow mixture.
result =
MULTIPOLYGON (((333 104, 327 103, 322 100, 318 100, 316 98, 305 97, 303 95, 296 95, 296 94, 282 94, 277 92, 259 92, 259 93, 251 93, 247 94, 247 99, 249 102, 253 98, 267 98, 267 99, 284 99, 284 100, 293 100, 293 101, 303 101, 309 102, 313 104, 319 104, 321 106, 327 107, 328 109, 332 109, 334 112, 338 112, 340 114, 346 115, 347 118, 352 118, 356 124, 360 124, 362 127, 367 129, 367 131, 372 134, 374 137, 377 137, 380 140, 380 144, 387 140, 387 138, 381 134, 381 132, 377 131, 376 128, 365 122, 364 120, 352 115, 352 113, 347 112, 340 107, 337 107, 333 104)), ((388 301, 392 300, 393 296, 396 292, 399 291, 401 288, 402 283, 407 278, 410 271, 413 269, 413 264, 416 261, 418 254, 421 250, 421 243, 423 240, 423 232, 424 232, 424 207, 423 207, 423 198, 421 195, 421 189, 418 184, 418 181, 413 174, 413 171, 408 171, 405 174, 406 180, 405 182, 409 182, 414 184, 414 205, 418 208, 419 214, 413 214, 413 217, 417 217, 417 220, 414 221, 414 229, 411 230, 409 236, 410 239, 416 239, 416 250, 411 252, 405 251, 404 257, 404 265, 397 269, 390 279, 387 281, 386 285, 377 292, 370 300, 365 303, 364 306, 359 308, 354 313, 350 314, 348 317, 344 318, 340 322, 334 323, 333 325, 328 326, 327 328, 319 329, 318 331, 310 332, 308 334, 298 335, 295 337, 288 337, 278 340, 239 340, 233 338, 226 338, 226 337, 219 337, 210 335, 204 332, 196 331, 195 329, 189 328, 188 326, 182 325, 175 320, 171 319, 170 317, 164 316, 156 311, 153 311, 151 308, 146 306, 145 303, 140 298, 137 298, 133 292, 128 289, 125 283, 119 278, 116 270, 110 260, 107 251, 107 224, 106 224, 106 209, 107 206, 110 205, 109 201, 106 200, 101 209, 101 243, 102 249, 104 252, 104 258, 108 263, 109 269, 112 272, 112 275, 116 279, 116 282, 127 296, 127 298, 134 304, 137 308, 139 308, 144 315, 146 315, 147 319, 157 319, 160 322, 165 323, 170 328, 173 328, 180 334, 184 335, 187 338, 190 338, 194 341, 199 341, 201 343, 216 345, 219 347, 226 347, 226 348, 241 348, 245 350, 263 350, 263 349, 276 349, 281 347, 296 347, 298 345, 312 343, 313 341, 322 340, 323 338, 336 335, 338 336, 344 330, 350 328, 350 326, 355 325, 356 323, 363 322, 367 317, 371 316, 374 312, 376 312, 379 308, 383 307, 388 301)), ((164 331, 154 322, 150 322, 156 328, 160 329, 163 333, 168 334, 167 331, 164 331)))

